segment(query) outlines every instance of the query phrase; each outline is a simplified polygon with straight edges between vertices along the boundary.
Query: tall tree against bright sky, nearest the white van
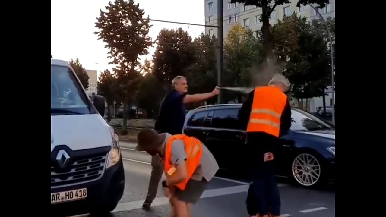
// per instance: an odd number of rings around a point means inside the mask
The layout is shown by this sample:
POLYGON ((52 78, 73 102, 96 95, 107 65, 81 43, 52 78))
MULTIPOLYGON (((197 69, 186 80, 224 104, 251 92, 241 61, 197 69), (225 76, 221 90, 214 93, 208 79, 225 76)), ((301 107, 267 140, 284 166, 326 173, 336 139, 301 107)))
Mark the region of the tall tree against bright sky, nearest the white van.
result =
POLYGON ((134 0, 115 0, 105 7, 106 12, 100 10, 95 27, 99 31, 94 32, 98 39, 106 43, 110 49, 109 58, 111 64, 117 64, 114 70, 117 77, 117 96, 124 104, 123 133, 127 132, 127 108, 132 102, 138 90, 140 73, 139 56, 148 54, 147 48, 152 45, 148 36, 149 17, 143 19, 144 10, 135 4, 134 0))

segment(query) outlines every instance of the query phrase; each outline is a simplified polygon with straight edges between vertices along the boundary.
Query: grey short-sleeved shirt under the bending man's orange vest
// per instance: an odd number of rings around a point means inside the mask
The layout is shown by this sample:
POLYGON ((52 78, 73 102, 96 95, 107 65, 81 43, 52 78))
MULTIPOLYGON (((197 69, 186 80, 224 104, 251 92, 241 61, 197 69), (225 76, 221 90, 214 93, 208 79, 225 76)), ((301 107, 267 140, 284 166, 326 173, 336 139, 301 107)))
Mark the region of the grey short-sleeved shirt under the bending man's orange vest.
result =
MULTIPOLYGON (((164 146, 166 142, 168 142, 171 134, 166 133, 166 138, 164 142, 164 146)), ((186 160, 186 152, 185 152, 185 144, 182 139, 176 139, 171 143, 171 163, 175 166, 178 165, 179 162, 186 160)), ((196 171, 191 176, 192 179, 201 181, 202 178, 210 181, 213 176, 215 176, 218 170, 218 164, 213 154, 208 150, 208 148, 202 144, 202 156, 200 160, 200 165, 196 168, 196 171)))

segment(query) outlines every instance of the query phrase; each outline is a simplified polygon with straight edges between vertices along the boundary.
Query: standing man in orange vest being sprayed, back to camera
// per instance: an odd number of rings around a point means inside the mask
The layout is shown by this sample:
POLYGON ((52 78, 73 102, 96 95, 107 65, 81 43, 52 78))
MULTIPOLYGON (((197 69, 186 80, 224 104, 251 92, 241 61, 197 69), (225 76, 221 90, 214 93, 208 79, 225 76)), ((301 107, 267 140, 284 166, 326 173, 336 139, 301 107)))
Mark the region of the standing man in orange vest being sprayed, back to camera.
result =
POLYGON ((289 86, 289 81, 277 74, 268 86, 257 87, 249 93, 239 111, 239 120, 247 129, 246 143, 251 154, 253 177, 251 188, 255 197, 254 202, 247 201, 247 206, 256 203, 253 208, 261 217, 280 216, 273 159, 278 137, 291 127, 291 108, 284 94, 289 86))

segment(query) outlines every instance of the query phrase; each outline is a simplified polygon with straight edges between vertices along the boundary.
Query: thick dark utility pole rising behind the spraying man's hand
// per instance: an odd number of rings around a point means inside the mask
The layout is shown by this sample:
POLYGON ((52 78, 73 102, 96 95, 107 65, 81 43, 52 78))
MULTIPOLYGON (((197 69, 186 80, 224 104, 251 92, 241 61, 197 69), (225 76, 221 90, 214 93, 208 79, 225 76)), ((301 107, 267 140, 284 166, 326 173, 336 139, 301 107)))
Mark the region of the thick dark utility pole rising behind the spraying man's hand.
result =
MULTIPOLYGON (((217 0, 217 86, 221 87, 223 61, 223 0, 217 0)), ((222 93, 217 96, 217 103, 222 102, 222 93)))

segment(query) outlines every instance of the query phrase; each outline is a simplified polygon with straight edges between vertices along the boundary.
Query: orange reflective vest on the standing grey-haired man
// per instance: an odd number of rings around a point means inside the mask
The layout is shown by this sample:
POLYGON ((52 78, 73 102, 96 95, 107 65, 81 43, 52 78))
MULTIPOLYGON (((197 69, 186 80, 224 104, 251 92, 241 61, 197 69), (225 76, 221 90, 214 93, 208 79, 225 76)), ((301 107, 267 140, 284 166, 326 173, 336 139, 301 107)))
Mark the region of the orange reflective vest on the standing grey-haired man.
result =
POLYGON ((286 103, 287 95, 274 86, 255 88, 247 132, 266 132, 278 137, 286 103))

